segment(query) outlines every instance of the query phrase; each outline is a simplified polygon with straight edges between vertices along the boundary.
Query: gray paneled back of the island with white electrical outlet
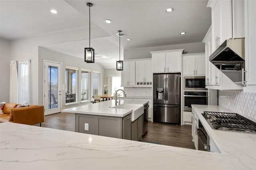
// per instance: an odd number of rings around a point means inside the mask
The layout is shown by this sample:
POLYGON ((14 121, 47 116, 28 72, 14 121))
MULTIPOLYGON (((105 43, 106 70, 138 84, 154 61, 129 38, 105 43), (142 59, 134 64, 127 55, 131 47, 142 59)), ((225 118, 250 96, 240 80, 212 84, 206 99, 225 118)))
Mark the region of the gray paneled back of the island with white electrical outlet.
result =
POLYGON ((131 114, 112 117, 76 113, 76 132, 131 140, 131 114))

